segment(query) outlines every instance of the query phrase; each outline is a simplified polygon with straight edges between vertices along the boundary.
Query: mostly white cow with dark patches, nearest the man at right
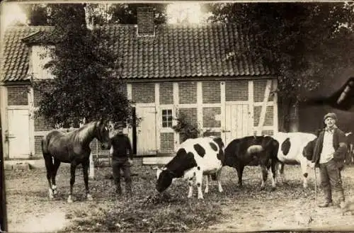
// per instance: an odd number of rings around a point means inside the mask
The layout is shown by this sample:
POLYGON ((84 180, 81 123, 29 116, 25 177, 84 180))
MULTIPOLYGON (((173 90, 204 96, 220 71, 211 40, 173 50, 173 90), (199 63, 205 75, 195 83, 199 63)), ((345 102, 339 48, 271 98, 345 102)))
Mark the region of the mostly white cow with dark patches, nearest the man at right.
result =
POLYGON ((312 158, 312 154, 304 147, 309 148, 309 142, 316 139, 316 135, 307 132, 278 132, 273 138, 279 142, 278 160, 280 161, 280 176, 284 181, 285 164, 300 164, 303 176, 303 186, 307 188, 307 168, 312 158))

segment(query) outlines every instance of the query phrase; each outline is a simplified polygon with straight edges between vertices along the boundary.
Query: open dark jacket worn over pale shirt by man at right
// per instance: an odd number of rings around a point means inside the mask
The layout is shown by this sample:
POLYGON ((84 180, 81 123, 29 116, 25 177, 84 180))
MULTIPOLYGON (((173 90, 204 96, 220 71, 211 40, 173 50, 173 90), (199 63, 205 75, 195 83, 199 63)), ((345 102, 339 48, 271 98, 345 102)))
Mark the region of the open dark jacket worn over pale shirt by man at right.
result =
MULTIPOLYGON (((319 132, 319 137, 316 140, 316 144, 314 145, 314 156, 312 157, 312 162, 319 166, 319 158, 321 156, 322 147, 324 143, 324 132, 325 130, 321 130, 319 132)), ((333 160, 337 162, 338 167, 341 169, 344 165, 344 159, 346 158, 347 152, 347 144, 346 144, 346 134, 335 128, 333 131, 333 147, 334 147, 334 154, 333 160)))

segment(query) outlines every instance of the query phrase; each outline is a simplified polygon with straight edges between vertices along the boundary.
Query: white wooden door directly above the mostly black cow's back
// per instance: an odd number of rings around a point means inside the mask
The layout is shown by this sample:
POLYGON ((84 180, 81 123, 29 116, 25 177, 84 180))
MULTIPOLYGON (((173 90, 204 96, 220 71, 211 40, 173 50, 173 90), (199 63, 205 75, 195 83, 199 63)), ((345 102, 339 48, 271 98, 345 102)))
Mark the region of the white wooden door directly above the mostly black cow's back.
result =
POLYGON ((239 137, 251 135, 252 120, 249 104, 227 103, 225 106, 225 144, 239 137))

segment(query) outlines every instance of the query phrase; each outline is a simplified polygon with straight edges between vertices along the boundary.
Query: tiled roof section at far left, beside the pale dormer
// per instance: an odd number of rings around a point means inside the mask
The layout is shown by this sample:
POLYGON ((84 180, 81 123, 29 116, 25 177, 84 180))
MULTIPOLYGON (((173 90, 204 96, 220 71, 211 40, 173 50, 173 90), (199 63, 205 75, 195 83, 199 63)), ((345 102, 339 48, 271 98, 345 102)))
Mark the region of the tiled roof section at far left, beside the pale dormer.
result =
POLYGON ((25 38, 39 31, 48 31, 48 26, 11 26, 6 28, 1 39, 0 80, 19 81, 28 79, 29 48, 22 42, 25 38))

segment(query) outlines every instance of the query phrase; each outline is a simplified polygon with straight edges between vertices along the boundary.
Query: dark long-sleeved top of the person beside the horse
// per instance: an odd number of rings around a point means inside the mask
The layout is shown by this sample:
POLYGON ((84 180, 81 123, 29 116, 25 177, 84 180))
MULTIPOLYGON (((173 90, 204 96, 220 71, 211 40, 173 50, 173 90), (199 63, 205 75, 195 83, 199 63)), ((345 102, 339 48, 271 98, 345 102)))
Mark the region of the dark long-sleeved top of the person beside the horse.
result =
POLYGON ((110 143, 113 147, 113 159, 127 157, 127 152, 129 153, 130 159, 132 159, 132 145, 127 135, 115 135, 110 139, 110 143))

